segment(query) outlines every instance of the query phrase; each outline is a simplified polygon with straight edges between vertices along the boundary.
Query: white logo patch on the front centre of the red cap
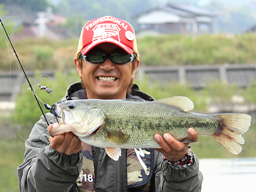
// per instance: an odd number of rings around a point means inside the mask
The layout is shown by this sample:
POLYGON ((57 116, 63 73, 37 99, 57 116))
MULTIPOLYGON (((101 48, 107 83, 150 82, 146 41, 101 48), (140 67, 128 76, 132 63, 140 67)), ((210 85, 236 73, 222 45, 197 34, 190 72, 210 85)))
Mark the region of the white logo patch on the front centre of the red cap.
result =
POLYGON ((107 24, 106 23, 106 24, 96 25, 93 29, 93 31, 94 31, 93 42, 102 40, 105 38, 112 38, 112 37, 116 37, 118 39, 118 41, 120 42, 120 37, 119 37, 120 30, 121 29, 116 24, 107 24))

